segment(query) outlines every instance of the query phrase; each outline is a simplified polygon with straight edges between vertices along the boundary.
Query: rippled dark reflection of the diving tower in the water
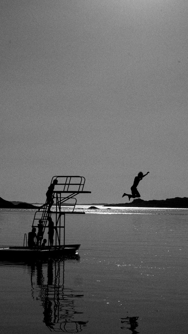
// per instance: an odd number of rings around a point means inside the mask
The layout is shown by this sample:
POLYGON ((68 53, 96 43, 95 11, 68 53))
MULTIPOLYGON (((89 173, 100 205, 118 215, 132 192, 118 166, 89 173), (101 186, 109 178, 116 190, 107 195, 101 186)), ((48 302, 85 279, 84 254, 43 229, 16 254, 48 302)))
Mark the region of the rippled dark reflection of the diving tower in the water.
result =
MULTIPOLYGON (((79 257, 79 256, 78 256, 79 257)), ((79 259, 78 259, 79 260, 79 259)), ((66 260, 35 263, 30 266, 32 298, 41 300, 43 322, 54 332, 78 333, 88 321, 78 312, 78 302, 83 300, 81 291, 64 287, 66 260)))

